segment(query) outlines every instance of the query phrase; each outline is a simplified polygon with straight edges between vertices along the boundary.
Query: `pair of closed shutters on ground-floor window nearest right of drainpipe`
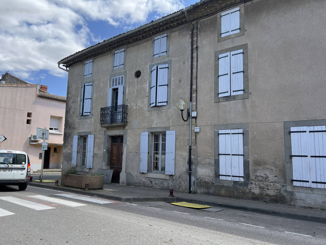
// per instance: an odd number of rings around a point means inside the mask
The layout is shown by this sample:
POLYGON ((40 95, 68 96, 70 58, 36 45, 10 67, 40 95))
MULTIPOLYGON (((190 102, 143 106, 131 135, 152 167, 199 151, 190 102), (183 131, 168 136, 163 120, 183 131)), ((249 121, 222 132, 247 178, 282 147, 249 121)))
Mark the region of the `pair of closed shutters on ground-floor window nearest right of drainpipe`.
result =
POLYGON ((218 138, 220 179, 244 181, 243 130, 219 130, 218 138))

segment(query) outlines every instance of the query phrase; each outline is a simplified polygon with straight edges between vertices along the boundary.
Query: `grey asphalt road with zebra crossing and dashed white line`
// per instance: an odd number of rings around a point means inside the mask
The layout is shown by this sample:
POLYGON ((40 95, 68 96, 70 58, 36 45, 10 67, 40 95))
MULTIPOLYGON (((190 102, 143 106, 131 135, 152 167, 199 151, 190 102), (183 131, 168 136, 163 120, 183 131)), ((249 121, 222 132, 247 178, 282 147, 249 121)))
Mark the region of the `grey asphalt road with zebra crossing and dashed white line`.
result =
POLYGON ((165 202, 120 203, 32 186, 0 186, 0 229, 4 245, 326 244, 320 223, 165 202))

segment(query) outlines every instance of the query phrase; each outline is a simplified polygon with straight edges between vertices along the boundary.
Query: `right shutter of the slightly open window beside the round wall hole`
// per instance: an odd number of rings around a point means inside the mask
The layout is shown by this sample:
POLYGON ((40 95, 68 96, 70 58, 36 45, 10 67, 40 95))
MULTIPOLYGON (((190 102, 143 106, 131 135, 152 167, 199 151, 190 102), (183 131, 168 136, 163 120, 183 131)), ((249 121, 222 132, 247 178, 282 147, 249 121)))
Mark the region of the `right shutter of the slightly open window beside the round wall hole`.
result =
POLYGON ((158 65, 157 68, 157 95, 156 106, 166 106, 168 104, 168 70, 169 65, 158 65))

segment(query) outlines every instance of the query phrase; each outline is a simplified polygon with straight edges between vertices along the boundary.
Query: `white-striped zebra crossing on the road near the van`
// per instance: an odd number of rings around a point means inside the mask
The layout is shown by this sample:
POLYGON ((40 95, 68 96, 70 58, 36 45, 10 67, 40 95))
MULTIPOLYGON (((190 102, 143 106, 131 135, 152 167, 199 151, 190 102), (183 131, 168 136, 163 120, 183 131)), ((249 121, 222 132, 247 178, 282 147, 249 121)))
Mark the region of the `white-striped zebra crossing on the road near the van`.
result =
MULTIPOLYGON (((107 199, 101 199, 101 198, 96 198, 96 197, 87 197, 83 195, 78 195, 78 194, 68 194, 68 193, 62 193, 62 194, 54 194, 57 197, 50 197, 50 196, 43 196, 43 195, 31 195, 27 196, 28 200, 22 198, 17 198, 17 197, 12 197, 12 196, 5 196, 5 197, 0 197, 0 201, 5 201, 9 202, 12 204, 17 204, 19 206, 31 208, 34 210, 46 210, 46 209, 55 209, 56 207, 51 206, 52 204, 61 204, 64 206, 69 206, 69 207, 79 207, 79 206, 87 206, 87 204, 83 203, 78 203, 78 202, 73 202, 69 201, 66 199, 61 199, 60 197, 65 197, 65 198, 71 198, 71 199, 77 199, 77 200, 82 200, 82 201, 87 201, 91 203, 97 203, 97 204, 108 204, 108 203, 116 203, 116 201, 111 201, 107 199), (38 203, 38 202, 42 202, 38 203)), ((0 204, 1 205, 1 204, 0 204)), ((8 216, 8 215, 14 215, 15 213, 5 210, 0 208, 0 217, 2 216, 8 216)))

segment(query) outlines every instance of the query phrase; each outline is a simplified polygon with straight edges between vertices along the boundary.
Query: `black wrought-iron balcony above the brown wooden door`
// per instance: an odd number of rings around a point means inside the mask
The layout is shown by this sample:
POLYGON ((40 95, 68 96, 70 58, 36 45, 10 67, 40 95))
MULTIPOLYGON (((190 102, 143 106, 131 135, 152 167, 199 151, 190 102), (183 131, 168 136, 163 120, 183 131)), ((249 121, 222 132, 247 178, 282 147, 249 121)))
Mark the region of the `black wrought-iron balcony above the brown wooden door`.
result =
POLYGON ((101 127, 116 127, 127 124, 127 105, 102 107, 101 127))

